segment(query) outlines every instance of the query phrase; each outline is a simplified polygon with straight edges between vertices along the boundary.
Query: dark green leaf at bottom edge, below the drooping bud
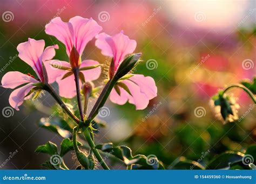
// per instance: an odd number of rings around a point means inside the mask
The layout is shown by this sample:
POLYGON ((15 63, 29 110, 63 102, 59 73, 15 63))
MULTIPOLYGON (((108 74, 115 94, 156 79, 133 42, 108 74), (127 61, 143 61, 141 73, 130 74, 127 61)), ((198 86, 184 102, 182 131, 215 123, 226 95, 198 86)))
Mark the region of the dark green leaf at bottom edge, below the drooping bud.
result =
POLYGON ((231 165, 242 161, 242 157, 241 152, 227 151, 211 160, 206 169, 230 169, 231 165))

